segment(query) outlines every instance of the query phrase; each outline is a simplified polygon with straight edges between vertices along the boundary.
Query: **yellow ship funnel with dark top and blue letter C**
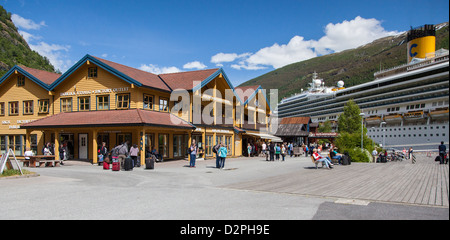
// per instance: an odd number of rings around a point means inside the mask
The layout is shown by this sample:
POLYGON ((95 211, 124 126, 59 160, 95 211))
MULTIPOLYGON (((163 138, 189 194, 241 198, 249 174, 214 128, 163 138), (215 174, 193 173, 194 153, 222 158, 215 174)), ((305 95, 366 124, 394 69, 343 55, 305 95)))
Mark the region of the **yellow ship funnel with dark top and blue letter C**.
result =
POLYGON ((424 25, 408 31, 408 63, 413 58, 429 58, 434 57, 436 51, 436 30, 434 25, 424 25))

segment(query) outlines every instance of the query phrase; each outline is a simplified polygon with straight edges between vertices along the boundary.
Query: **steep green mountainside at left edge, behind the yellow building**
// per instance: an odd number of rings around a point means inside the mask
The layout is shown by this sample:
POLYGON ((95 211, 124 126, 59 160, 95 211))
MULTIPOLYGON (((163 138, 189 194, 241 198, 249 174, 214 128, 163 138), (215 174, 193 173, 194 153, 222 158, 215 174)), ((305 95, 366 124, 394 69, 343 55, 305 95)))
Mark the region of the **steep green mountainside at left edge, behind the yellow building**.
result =
POLYGON ((11 21, 11 13, 0 6, 0 77, 14 65, 55 72, 50 61, 31 50, 11 21))

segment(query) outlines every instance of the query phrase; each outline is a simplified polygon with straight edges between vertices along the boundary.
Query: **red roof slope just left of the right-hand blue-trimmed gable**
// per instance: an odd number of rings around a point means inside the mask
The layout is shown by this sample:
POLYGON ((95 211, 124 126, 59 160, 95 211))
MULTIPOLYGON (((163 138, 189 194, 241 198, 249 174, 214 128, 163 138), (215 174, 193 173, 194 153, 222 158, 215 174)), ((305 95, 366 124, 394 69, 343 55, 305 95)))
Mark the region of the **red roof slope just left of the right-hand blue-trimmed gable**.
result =
POLYGON ((169 85, 169 87, 172 88, 172 90, 175 89, 191 90, 196 85, 198 85, 198 83, 194 84, 194 82, 196 81, 202 82, 203 80, 211 76, 213 73, 217 72, 217 70, 219 69, 216 68, 190 72, 167 73, 167 74, 160 74, 159 77, 162 80, 164 80, 164 82, 166 82, 167 85, 169 85))

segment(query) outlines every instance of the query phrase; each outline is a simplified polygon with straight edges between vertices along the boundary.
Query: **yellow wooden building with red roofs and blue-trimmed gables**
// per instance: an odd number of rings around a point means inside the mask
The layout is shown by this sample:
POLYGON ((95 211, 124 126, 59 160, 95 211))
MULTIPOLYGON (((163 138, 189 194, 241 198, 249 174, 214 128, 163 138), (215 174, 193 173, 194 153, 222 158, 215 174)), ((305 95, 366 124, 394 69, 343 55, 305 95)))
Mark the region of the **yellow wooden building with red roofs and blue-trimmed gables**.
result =
POLYGON ((199 157, 215 157, 218 142, 241 156, 247 143, 270 138, 266 100, 260 86, 234 88, 223 69, 155 75, 91 55, 62 75, 15 66, 0 80, 0 150, 40 153, 51 142, 58 155, 64 143, 71 158, 95 163, 101 142, 129 141, 143 163, 153 148, 185 158, 195 139, 199 157))

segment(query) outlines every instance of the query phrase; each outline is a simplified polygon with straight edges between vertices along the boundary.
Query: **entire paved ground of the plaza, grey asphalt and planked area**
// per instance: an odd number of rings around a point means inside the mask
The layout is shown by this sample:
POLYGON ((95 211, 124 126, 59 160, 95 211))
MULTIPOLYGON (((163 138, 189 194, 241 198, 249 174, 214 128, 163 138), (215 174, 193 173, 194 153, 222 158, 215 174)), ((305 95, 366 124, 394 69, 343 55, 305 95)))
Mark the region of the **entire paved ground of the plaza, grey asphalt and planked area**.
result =
POLYGON ((112 172, 86 162, 26 168, 38 177, 0 179, 0 219, 449 219, 449 167, 352 163, 315 169, 309 157, 285 162, 229 158, 156 163, 112 172))

